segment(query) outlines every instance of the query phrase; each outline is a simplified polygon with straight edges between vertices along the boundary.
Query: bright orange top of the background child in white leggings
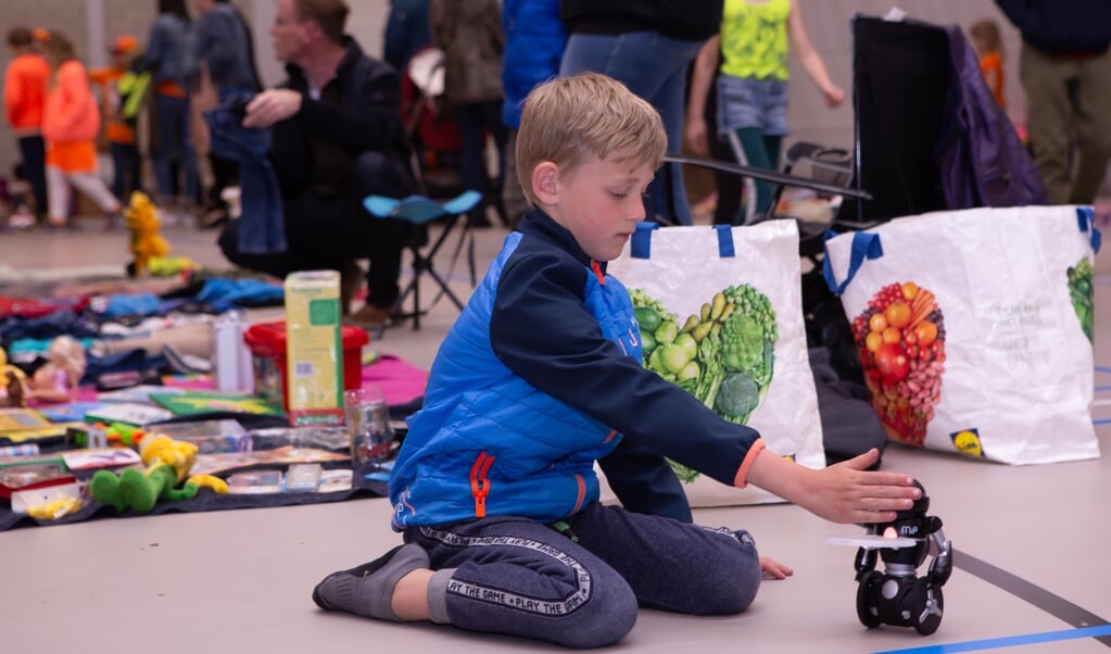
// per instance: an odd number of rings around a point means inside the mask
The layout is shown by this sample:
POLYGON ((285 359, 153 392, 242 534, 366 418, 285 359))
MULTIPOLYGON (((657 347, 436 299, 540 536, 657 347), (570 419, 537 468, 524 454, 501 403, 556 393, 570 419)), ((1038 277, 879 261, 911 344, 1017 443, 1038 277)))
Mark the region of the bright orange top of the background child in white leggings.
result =
POLYGON ((100 131, 100 109, 89 89, 89 76, 80 61, 71 59, 54 72, 42 113, 47 141, 92 141, 100 131))

